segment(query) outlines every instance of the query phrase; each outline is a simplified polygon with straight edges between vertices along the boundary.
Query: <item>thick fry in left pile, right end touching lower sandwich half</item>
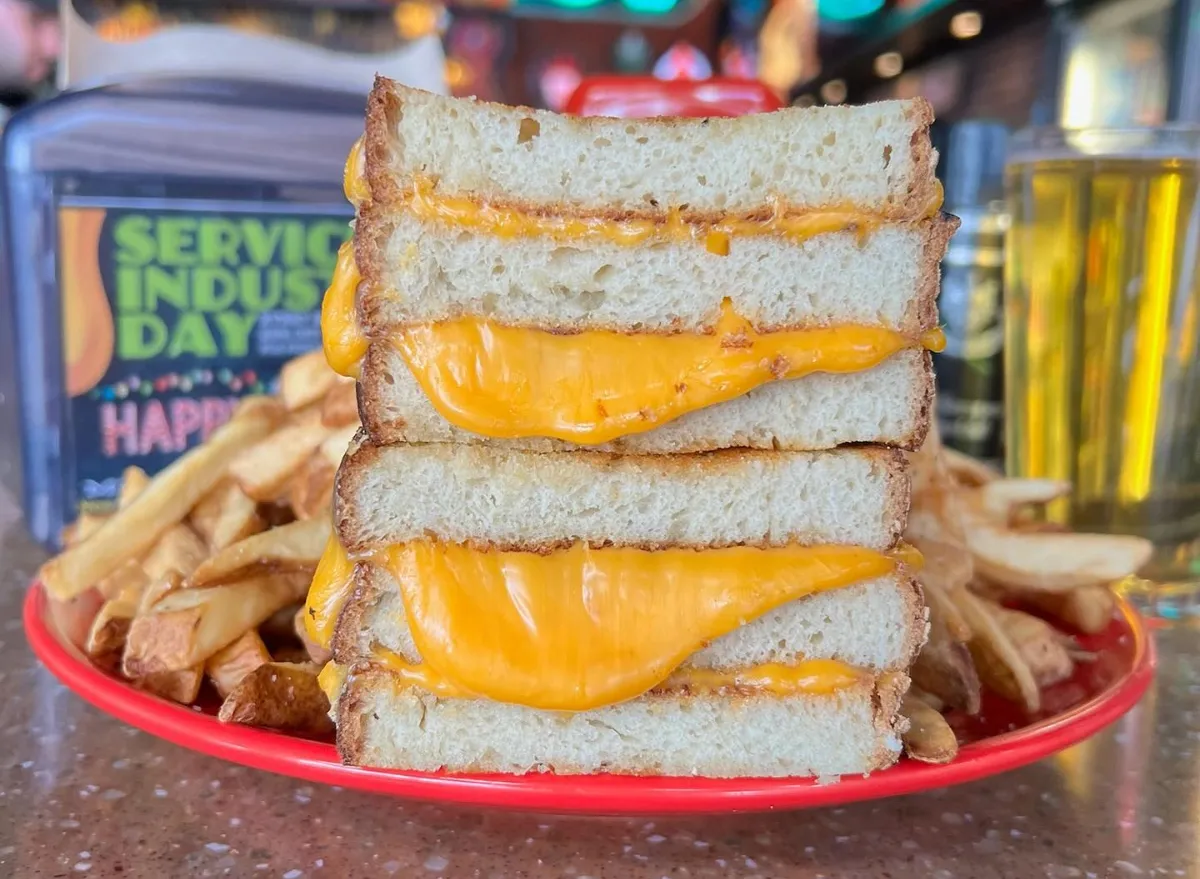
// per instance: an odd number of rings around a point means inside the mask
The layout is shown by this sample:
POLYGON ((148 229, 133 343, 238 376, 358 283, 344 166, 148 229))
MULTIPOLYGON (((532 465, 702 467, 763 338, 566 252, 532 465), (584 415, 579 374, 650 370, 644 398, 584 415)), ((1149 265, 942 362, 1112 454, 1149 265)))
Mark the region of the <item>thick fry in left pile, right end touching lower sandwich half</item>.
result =
POLYGON ((331 518, 318 516, 252 534, 200 564, 192 574, 191 586, 216 586, 269 570, 302 572, 311 576, 331 530, 331 518))

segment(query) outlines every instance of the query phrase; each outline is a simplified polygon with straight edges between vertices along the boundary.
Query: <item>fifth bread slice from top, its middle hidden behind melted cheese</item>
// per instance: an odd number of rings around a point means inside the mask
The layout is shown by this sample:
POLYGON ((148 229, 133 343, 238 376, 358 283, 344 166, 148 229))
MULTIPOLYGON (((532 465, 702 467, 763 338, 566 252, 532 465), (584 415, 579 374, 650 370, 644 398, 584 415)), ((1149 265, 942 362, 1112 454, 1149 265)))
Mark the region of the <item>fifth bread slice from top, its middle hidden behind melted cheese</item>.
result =
MULTIPOLYGON (((684 668, 736 670, 763 663, 838 659, 874 671, 907 670, 928 628, 920 587, 907 572, 820 592, 724 635, 684 668)), ((385 647, 419 663, 400 586, 386 568, 360 563, 334 634, 334 659, 349 665, 385 647)))

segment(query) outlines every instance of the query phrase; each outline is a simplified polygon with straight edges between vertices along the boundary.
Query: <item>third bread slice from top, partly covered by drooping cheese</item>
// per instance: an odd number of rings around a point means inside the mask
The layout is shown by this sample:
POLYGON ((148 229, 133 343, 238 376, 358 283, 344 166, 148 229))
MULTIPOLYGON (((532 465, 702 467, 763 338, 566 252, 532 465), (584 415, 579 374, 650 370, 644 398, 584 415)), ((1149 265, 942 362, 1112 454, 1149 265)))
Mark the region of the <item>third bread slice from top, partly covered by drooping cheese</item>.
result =
MULTIPOLYGON (((830 449, 924 442, 934 400, 929 354, 907 349, 875 369, 772 382, 727 402, 689 412, 644 433, 587 448, 625 454, 679 454, 726 448, 830 449)), ((492 440, 456 427, 433 408, 403 357, 374 342, 362 361, 359 414, 377 444, 482 443, 534 452, 583 448, 559 440, 492 440)))

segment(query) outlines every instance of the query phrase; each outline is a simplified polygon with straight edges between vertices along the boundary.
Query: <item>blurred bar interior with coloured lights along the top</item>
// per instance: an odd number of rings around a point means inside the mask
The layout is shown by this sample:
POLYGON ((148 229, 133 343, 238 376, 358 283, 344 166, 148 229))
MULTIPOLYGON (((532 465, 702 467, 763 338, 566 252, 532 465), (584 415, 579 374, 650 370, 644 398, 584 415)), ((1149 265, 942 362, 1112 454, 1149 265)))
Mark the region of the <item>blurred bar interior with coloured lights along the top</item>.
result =
MULTIPOLYGON (((92 35, 136 44, 173 30, 218 25, 360 56, 434 35, 444 48, 438 74, 454 94, 552 109, 563 107, 584 76, 715 73, 760 78, 802 104, 924 95, 943 122, 986 116, 1009 125, 1031 119, 1154 124, 1187 97, 1189 49, 1198 54, 1190 42, 1194 6, 1189 0, 467 0, 446 6, 420 0, 67 0, 59 10, 49 0, 0 0, 0 103, 11 109, 53 94, 56 82, 65 84, 66 55, 91 47, 92 35)), ((198 42, 188 46, 211 52, 198 42)), ((82 64, 78 58, 76 64, 82 64)))

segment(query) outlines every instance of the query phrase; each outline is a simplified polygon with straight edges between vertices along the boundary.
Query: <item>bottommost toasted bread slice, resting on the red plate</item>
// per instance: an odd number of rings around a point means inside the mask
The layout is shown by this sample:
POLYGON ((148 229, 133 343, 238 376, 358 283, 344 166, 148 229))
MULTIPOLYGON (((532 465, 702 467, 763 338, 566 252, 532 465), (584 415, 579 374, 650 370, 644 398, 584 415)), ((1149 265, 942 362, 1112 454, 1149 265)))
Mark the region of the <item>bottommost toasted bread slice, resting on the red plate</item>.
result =
POLYGON ((334 716, 338 753, 356 766, 833 777, 895 763, 907 688, 905 675, 887 674, 827 695, 674 689, 566 713, 438 699, 364 663, 347 676, 334 716))

